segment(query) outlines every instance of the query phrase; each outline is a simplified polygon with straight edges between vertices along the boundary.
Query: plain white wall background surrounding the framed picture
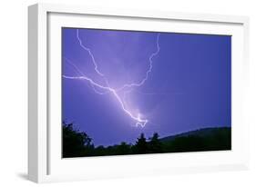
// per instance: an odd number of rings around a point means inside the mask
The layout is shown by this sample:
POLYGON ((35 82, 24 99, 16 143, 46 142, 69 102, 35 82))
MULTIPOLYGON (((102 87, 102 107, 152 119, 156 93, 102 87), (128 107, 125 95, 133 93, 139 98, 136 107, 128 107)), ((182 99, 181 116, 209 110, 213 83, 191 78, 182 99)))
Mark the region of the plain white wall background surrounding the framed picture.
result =
MULTIPOLYGON (((37 1, 41 2, 41 1, 37 1)), ((1 2, 0 29, 0 185, 34 186, 26 180, 27 156, 27 5, 33 0, 1 2)), ((99 5, 251 18, 251 87, 247 119, 251 122, 251 170, 111 179, 104 181, 53 183, 54 186, 256 186, 256 5, 253 0, 52 0, 50 3, 99 5), (253 111, 254 110, 254 111, 253 111)))

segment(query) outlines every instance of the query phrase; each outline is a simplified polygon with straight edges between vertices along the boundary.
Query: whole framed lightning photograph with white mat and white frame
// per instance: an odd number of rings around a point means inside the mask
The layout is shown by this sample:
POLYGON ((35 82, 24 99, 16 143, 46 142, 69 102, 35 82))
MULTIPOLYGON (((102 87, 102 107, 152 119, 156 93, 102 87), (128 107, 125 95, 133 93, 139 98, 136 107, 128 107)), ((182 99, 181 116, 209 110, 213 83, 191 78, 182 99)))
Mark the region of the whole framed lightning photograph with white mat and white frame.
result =
POLYGON ((28 13, 31 181, 248 168, 247 17, 28 13))

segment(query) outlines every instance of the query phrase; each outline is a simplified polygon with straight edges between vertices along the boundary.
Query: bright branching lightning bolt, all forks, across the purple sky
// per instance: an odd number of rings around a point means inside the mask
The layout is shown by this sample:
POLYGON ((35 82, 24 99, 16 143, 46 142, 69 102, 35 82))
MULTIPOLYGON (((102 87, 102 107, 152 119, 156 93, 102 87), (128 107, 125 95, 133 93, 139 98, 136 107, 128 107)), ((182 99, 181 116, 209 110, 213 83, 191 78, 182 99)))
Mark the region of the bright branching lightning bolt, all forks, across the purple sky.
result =
MULTIPOLYGON (((103 85, 103 84, 99 84, 96 81, 94 81, 92 78, 87 77, 86 74, 84 74, 83 72, 81 72, 79 70, 79 68, 77 68, 77 65, 74 64, 71 60, 67 59, 66 57, 64 58, 69 64, 71 64, 75 70, 77 71, 78 74, 81 74, 80 76, 67 76, 67 75, 63 75, 63 78, 66 79, 72 79, 72 80, 85 80, 87 81, 89 84, 92 85, 94 91, 97 94, 108 94, 111 93, 115 96, 115 98, 117 99, 118 103, 121 106, 121 109, 128 114, 128 116, 133 119, 136 122, 136 126, 141 126, 141 127, 145 127, 145 125, 148 123, 148 119, 142 119, 141 114, 137 113, 137 115, 131 113, 127 107, 126 107, 126 103, 125 101, 122 101, 121 97, 119 96, 118 92, 122 91, 125 88, 130 88, 132 89, 133 87, 139 87, 142 86, 147 80, 148 80, 148 75, 150 74, 150 72, 152 71, 153 68, 153 57, 156 56, 157 54, 159 54, 159 34, 157 36, 157 51, 154 52, 153 54, 151 54, 148 58, 149 60, 149 67, 148 67, 148 71, 146 72, 145 77, 138 83, 132 83, 132 84, 124 84, 123 86, 121 86, 120 88, 112 88, 109 84, 108 84, 108 79, 104 76, 104 74, 102 74, 99 70, 98 70, 98 66, 97 66, 97 62, 95 60, 94 55, 91 53, 91 50, 89 48, 87 48, 87 46, 85 46, 81 40, 81 38, 79 37, 79 30, 77 29, 77 41, 78 44, 81 46, 82 49, 86 50, 87 53, 90 55, 92 63, 94 64, 94 70, 95 72, 104 78, 105 80, 105 84, 107 85, 103 85), (102 91, 105 91, 104 93, 98 92, 97 89, 100 89, 102 91)), ((125 93, 127 94, 127 93, 125 93)))

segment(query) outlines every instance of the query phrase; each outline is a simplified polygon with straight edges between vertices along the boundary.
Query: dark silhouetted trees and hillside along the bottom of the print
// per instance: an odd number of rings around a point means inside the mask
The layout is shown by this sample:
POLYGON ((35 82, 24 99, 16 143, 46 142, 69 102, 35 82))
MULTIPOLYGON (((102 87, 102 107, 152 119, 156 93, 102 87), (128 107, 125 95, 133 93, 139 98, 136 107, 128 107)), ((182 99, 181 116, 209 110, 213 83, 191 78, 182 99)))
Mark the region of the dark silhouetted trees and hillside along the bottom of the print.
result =
POLYGON ((143 153, 178 153, 214 150, 230 150, 230 128, 216 128, 214 133, 207 135, 173 136, 159 139, 154 133, 146 139, 141 133, 136 143, 119 143, 108 147, 94 146, 87 133, 79 132, 73 123, 63 123, 63 157, 84 157, 104 155, 124 155, 143 153))

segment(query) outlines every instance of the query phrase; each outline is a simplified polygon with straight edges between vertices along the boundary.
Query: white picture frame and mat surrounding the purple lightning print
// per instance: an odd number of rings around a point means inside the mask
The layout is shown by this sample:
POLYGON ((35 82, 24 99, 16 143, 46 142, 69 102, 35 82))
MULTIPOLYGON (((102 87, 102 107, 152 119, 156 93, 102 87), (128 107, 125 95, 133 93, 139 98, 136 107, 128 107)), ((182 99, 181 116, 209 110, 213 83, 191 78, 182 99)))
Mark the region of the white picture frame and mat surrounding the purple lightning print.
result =
POLYGON ((249 124, 243 118, 249 19, 234 15, 104 9, 36 4, 28 8, 28 178, 61 182, 109 177, 249 168, 249 124), (106 22, 108 19, 108 22, 106 22), (141 22, 145 23, 141 25, 141 22), (154 28, 152 26, 158 25, 154 28), (61 26, 232 35, 232 150, 62 159, 59 121, 61 26), (53 63, 56 62, 56 63, 53 63), (53 117, 58 116, 58 117, 53 117), (158 162, 158 164, 156 164, 158 162), (148 164, 150 163, 150 164, 148 164), (90 170, 87 172, 84 165, 90 170), (141 166, 141 167, 139 167, 141 166), (75 170, 76 169, 76 170, 75 170))

